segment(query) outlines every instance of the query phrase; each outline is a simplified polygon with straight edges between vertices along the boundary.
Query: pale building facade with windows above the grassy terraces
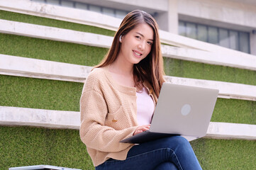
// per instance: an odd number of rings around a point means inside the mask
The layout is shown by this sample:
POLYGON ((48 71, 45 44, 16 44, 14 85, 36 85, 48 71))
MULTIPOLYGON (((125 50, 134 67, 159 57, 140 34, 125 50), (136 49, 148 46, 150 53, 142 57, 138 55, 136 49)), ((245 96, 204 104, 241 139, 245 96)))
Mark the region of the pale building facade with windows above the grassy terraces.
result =
POLYGON ((32 0, 123 18, 147 11, 161 30, 256 55, 254 0, 32 0))

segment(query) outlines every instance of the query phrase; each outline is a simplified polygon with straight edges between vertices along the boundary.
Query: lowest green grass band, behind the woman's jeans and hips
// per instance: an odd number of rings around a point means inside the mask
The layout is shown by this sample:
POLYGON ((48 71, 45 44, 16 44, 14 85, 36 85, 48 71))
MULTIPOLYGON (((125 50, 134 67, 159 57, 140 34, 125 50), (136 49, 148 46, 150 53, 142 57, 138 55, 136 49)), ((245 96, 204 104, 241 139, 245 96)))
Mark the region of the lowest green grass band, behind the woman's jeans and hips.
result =
MULTIPOLYGON (((94 169, 78 130, 0 127, 0 169, 50 164, 94 169)), ((256 169, 255 141, 199 139, 191 142, 204 170, 256 169)))

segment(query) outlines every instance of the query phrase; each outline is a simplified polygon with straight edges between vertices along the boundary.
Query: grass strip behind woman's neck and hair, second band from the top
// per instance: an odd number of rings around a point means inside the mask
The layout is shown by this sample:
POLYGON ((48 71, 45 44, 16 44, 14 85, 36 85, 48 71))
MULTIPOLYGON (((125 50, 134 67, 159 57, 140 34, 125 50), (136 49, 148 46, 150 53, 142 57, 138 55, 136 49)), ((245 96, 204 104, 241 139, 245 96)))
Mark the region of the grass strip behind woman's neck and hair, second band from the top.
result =
MULTIPOLYGON (((57 42, 18 35, 0 34, 0 54, 94 66, 108 49, 57 42)), ((165 72, 169 76, 227 81, 256 85, 256 72, 164 57, 165 72)))

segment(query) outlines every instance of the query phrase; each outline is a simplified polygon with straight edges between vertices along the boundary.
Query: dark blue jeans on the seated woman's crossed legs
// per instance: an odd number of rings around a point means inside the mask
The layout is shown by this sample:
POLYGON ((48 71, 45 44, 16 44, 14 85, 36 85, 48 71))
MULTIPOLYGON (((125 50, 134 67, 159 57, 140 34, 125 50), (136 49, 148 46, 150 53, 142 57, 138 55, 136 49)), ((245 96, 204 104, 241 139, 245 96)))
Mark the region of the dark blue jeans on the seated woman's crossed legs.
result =
POLYGON ((181 136, 165 137, 133 146, 124 161, 108 159, 96 166, 107 169, 201 169, 190 143, 181 136))

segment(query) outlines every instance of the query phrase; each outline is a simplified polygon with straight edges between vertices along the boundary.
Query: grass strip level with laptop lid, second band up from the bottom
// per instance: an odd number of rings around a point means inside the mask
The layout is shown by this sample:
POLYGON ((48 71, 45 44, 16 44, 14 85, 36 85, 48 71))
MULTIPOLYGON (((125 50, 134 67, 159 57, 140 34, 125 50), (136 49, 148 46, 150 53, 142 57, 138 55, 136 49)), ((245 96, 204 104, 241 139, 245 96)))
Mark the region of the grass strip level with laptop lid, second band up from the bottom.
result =
MULTIPOLYGON (((79 111, 82 83, 0 75, 0 106, 79 111)), ((256 101, 218 98, 213 122, 256 124, 256 101)))

